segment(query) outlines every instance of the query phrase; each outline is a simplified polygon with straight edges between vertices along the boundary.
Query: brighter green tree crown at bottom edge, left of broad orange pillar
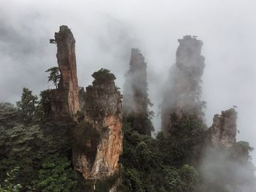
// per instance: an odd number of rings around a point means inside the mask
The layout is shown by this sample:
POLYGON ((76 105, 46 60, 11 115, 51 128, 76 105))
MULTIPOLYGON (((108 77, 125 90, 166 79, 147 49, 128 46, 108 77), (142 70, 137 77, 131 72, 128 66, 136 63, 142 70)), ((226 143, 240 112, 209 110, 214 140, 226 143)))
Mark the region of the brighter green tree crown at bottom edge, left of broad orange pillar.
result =
POLYGON ((37 180, 34 180, 33 191, 69 192, 76 191, 77 176, 66 157, 53 155, 47 158, 39 169, 37 180))

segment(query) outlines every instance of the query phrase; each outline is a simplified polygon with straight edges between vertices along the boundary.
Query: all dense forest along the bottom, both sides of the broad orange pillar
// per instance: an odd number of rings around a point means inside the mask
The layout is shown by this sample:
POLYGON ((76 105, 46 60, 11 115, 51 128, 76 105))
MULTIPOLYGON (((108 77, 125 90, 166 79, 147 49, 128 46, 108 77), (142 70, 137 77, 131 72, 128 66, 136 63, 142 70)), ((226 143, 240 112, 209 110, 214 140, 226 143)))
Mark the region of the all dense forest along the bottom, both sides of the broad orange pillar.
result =
MULTIPOLYGON (((26 88, 17 107, 0 104, 0 192, 80 191, 71 163, 76 123, 50 120, 44 104, 44 92, 37 99, 26 88)), ((122 191, 241 192, 255 185, 249 143, 212 147, 208 129, 192 116, 179 120, 169 136, 138 134, 126 120, 123 131, 121 172, 113 177, 122 180, 122 191)), ((97 183, 96 191, 109 183, 115 182, 97 183)))

